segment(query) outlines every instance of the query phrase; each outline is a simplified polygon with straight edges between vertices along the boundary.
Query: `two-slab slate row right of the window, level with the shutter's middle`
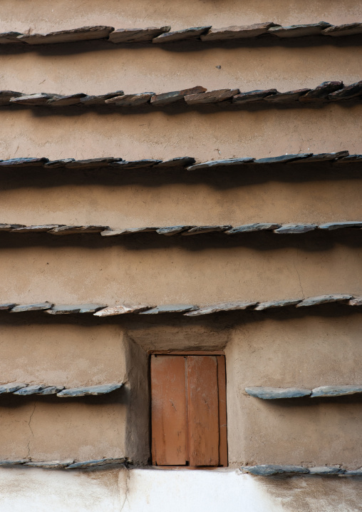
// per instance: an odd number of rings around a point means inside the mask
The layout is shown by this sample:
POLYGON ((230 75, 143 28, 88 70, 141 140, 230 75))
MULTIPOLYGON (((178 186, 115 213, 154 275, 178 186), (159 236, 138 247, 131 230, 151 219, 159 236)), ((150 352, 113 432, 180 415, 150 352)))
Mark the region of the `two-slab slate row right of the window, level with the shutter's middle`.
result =
POLYGON ((350 394, 362 393, 362 386, 319 386, 314 389, 303 388, 279 388, 279 387, 247 387, 245 391, 250 396, 261 398, 263 400, 277 400, 300 398, 301 396, 310 396, 311 398, 321 396, 346 396, 350 394))

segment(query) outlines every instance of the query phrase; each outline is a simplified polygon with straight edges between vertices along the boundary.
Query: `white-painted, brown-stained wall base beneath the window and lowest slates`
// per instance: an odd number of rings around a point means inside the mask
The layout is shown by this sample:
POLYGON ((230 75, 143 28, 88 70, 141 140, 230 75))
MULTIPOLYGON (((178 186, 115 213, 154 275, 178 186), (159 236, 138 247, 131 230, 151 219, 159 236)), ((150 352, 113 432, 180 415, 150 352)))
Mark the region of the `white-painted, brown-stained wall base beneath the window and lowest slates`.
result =
POLYGON ((0 469, 1 512, 358 512, 361 503, 358 477, 0 469))

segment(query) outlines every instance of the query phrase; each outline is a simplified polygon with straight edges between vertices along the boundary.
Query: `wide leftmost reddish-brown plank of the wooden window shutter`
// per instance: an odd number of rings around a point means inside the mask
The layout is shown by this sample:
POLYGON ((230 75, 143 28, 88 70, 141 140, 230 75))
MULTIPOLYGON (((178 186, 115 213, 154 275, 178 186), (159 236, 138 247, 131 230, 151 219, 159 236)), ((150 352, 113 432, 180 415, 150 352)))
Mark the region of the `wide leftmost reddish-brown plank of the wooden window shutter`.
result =
POLYGON ((152 464, 186 464, 186 358, 151 357, 152 464))

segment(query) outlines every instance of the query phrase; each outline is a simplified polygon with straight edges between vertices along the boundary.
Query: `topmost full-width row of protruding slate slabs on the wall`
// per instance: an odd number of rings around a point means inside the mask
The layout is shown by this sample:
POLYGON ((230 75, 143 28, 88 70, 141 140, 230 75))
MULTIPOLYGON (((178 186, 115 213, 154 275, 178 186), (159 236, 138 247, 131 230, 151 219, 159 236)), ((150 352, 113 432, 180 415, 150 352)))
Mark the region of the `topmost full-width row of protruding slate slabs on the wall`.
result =
POLYGON ((361 23, 331 25, 326 21, 315 24, 280 26, 273 21, 247 26, 228 26, 214 29, 212 26, 196 26, 189 29, 171 31, 170 26, 149 26, 145 29, 114 29, 113 26, 83 26, 79 29, 61 30, 48 34, 21 34, 9 31, 0 34, 0 44, 41 44, 77 43, 104 39, 114 44, 133 43, 175 43, 182 41, 238 41, 257 37, 273 36, 278 39, 290 39, 309 36, 354 36, 362 34, 361 23))

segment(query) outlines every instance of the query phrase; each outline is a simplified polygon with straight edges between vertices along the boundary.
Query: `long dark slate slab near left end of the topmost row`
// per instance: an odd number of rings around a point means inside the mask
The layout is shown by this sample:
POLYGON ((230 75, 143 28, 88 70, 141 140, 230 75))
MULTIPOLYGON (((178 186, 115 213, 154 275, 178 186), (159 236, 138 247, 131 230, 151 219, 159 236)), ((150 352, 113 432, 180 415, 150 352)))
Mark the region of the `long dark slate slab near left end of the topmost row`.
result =
POLYGON ((82 26, 80 29, 61 30, 49 34, 30 34, 19 36, 19 40, 27 44, 54 44, 88 41, 90 39, 105 39, 113 26, 82 26))

